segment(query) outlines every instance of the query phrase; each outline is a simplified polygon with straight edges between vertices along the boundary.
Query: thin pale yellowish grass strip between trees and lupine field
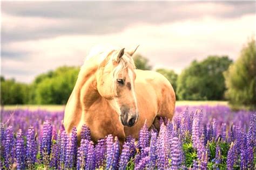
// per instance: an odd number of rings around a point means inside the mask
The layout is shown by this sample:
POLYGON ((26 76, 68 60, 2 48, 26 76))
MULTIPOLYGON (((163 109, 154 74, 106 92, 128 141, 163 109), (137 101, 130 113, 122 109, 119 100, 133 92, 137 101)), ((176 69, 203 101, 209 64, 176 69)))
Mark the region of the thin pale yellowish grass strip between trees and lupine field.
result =
MULTIPOLYGON (((177 101, 176 106, 181 105, 227 105, 227 101, 177 101)), ((62 111, 65 109, 65 105, 1 105, 1 108, 5 110, 15 110, 15 109, 29 109, 29 110, 49 110, 49 111, 62 111)))

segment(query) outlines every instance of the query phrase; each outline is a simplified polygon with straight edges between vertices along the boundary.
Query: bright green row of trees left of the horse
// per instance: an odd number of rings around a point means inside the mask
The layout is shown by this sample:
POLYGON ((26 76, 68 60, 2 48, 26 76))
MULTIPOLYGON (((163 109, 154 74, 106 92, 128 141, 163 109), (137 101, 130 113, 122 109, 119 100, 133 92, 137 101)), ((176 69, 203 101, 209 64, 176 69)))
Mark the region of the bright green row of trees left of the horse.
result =
POLYGON ((40 74, 31 84, 1 77, 1 104, 66 104, 79 67, 59 67, 40 74))

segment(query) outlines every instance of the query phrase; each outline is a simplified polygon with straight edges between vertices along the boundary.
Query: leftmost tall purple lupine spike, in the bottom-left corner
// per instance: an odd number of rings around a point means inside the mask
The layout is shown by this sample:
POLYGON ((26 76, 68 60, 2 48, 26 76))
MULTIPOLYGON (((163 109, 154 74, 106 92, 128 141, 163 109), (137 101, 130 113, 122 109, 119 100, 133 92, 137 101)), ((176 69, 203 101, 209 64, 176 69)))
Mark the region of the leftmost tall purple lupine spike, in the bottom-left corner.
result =
POLYGON ((7 169, 12 168, 15 158, 15 138, 14 138, 14 129, 12 126, 9 126, 5 130, 5 140, 4 140, 4 165, 7 169))

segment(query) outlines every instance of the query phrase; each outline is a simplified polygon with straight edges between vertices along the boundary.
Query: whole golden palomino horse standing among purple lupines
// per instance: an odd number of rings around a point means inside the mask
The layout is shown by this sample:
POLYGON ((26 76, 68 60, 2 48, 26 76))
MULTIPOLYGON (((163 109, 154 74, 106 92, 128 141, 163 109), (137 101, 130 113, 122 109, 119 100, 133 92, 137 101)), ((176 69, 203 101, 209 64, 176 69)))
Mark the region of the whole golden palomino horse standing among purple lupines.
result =
POLYGON ((123 142, 130 135, 138 138, 145 120, 159 129, 159 117, 172 119, 176 98, 170 82, 157 72, 135 69, 136 49, 87 56, 65 108, 68 133, 76 127, 79 139, 86 124, 94 141, 113 134, 123 142))

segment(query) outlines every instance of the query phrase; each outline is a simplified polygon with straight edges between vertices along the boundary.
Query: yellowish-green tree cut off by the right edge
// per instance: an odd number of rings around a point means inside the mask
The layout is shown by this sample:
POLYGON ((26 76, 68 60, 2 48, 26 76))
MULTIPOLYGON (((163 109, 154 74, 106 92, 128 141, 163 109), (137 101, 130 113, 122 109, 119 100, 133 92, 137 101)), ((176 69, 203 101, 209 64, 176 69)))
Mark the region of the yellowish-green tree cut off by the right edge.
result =
POLYGON ((256 47, 255 39, 248 41, 240 56, 224 73, 226 97, 230 104, 248 109, 256 107, 256 47))

